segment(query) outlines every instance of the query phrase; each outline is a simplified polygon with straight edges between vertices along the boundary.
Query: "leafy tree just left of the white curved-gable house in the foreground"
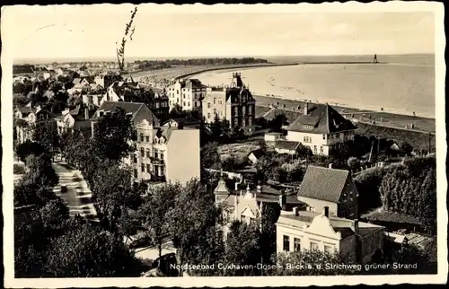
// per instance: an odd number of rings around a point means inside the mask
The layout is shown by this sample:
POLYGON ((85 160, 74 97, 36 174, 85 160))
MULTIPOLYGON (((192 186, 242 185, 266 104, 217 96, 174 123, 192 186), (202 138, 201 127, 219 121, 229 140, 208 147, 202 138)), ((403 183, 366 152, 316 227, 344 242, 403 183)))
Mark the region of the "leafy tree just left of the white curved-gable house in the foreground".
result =
POLYGON ((226 270, 226 276, 255 276, 257 264, 261 261, 260 232, 258 224, 232 223, 226 236, 225 266, 242 267, 236 270, 226 270), (252 266, 250 269, 244 266, 252 266))

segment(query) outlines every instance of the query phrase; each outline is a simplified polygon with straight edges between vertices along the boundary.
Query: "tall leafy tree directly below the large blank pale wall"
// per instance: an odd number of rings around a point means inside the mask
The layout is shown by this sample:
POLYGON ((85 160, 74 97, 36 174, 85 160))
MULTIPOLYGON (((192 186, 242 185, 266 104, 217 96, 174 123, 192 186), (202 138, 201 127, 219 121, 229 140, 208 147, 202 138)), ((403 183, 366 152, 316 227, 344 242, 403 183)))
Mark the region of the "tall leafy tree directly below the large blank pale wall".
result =
POLYGON ((198 259, 198 253, 207 255, 203 250, 209 246, 201 241, 201 236, 215 227, 217 216, 213 193, 208 192, 198 180, 190 180, 175 197, 174 206, 166 218, 180 266, 186 261, 198 259))

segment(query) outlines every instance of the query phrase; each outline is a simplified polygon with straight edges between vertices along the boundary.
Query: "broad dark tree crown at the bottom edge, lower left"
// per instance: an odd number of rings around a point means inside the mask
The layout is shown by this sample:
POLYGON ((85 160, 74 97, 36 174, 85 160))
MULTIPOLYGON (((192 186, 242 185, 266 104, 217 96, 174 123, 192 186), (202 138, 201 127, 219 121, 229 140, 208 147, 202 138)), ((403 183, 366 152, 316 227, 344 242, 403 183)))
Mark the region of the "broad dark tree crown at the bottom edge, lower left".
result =
POLYGON ((138 276, 139 267, 123 241, 86 224, 51 242, 45 271, 53 277, 124 277, 138 276))

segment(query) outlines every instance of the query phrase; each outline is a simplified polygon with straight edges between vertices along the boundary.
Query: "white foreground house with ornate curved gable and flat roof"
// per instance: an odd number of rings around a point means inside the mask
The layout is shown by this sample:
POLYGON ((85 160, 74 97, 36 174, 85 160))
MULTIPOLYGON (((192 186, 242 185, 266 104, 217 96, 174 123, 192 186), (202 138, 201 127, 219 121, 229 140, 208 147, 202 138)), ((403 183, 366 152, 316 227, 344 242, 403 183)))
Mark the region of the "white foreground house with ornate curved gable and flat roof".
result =
POLYGON ((330 215, 327 207, 321 214, 294 209, 277 219, 277 254, 321 250, 366 263, 383 250, 383 232, 382 226, 330 215))

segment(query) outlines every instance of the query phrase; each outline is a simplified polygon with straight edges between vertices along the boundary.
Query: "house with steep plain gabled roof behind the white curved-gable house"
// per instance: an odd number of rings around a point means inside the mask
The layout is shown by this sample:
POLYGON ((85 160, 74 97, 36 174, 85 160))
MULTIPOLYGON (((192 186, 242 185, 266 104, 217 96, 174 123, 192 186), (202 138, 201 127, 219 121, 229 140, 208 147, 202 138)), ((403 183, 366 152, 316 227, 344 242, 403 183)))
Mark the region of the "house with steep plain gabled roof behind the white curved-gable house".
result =
POLYGON ((330 215, 358 218, 358 192, 349 171, 309 165, 297 197, 308 211, 328 207, 330 215))

